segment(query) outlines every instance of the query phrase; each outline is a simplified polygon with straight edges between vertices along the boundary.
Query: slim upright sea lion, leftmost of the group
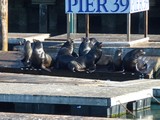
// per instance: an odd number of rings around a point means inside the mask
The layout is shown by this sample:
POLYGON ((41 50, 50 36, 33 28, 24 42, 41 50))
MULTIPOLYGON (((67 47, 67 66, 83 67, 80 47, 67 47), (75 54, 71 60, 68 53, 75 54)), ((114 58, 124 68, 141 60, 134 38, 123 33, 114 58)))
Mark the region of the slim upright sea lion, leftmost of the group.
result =
POLYGON ((21 60, 23 64, 27 67, 31 64, 31 56, 32 56, 32 46, 30 41, 25 41, 24 43, 24 58, 21 60))

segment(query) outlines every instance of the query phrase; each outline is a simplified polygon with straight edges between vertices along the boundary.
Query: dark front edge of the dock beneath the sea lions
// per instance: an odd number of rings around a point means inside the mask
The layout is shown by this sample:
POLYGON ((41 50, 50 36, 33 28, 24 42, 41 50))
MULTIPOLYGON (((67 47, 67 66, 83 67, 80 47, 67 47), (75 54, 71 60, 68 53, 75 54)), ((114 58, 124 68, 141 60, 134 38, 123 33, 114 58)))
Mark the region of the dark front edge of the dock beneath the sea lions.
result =
POLYGON ((59 77, 73 77, 83 79, 96 79, 96 80, 111 80, 111 81, 127 81, 135 79, 149 79, 150 75, 140 73, 128 73, 128 72, 100 72, 93 73, 86 72, 73 72, 68 70, 53 70, 52 72, 44 71, 41 69, 29 69, 29 68, 0 68, 0 72, 6 73, 22 73, 32 75, 49 75, 59 77))

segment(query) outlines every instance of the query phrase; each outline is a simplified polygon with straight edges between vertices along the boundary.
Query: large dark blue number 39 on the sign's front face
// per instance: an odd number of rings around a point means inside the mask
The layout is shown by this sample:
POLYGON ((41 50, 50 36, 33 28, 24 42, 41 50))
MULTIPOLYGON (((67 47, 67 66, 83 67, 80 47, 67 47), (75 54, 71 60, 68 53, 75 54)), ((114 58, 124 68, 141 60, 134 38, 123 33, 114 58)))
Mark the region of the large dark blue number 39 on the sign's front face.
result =
POLYGON ((112 12, 117 12, 121 7, 124 7, 124 9, 121 11, 124 12, 129 6, 129 0, 115 0, 114 5, 116 6, 116 9, 111 10, 112 12))

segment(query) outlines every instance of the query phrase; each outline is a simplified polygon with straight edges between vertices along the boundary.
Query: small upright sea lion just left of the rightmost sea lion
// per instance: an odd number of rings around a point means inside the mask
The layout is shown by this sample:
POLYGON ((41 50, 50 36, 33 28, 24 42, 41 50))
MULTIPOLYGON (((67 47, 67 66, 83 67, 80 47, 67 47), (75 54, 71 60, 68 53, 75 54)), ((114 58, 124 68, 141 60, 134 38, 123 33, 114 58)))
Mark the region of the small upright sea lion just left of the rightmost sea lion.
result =
POLYGON ((117 49, 113 56, 113 70, 123 71, 122 63, 122 49, 117 49))

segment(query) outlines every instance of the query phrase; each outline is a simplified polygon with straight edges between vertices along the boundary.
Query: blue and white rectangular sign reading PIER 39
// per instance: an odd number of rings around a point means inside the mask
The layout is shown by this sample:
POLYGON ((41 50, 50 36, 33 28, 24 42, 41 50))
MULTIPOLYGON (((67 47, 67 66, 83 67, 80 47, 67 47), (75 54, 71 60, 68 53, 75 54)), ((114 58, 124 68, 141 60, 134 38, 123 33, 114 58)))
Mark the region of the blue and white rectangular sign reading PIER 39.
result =
POLYGON ((149 10, 149 0, 65 0, 66 13, 134 13, 149 10))

